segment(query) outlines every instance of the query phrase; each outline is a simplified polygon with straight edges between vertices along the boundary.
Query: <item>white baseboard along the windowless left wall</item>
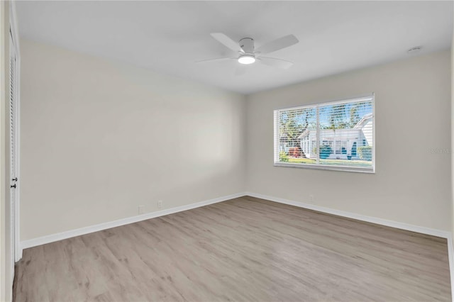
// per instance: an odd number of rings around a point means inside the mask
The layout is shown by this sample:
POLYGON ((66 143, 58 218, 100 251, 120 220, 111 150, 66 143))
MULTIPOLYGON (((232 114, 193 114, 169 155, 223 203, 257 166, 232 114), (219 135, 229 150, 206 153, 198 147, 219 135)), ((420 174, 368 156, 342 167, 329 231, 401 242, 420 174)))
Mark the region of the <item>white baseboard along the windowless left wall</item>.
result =
POLYGON ((59 240, 64 240, 64 239, 67 239, 67 238, 76 237, 76 236, 80 236, 80 235, 85 235, 85 234, 89 234, 89 233, 94 233, 94 232, 97 232, 99 230, 106 230, 108 228, 116 228, 116 227, 121 226, 121 225, 127 225, 127 224, 130 224, 130 223, 137 223, 138 221, 147 220, 147 219, 150 219, 150 218, 166 216, 166 215, 177 213, 177 212, 181 212, 181 211, 191 210, 192 208, 199 208, 201 206, 208 206, 209 204, 218 203, 218 202, 221 202, 221 201, 227 201, 229 199, 238 198, 238 197, 245 196, 245 195, 246 195, 245 193, 237 193, 237 194, 231 194, 231 195, 228 195, 228 196, 221 196, 221 197, 210 199, 210 200, 207 200, 207 201, 201 201, 201 202, 198 202, 198 203, 191 203, 191 204, 188 204, 188 205, 185 205, 185 206, 177 206, 176 208, 168 208, 168 209, 162 210, 162 211, 146 213, 146 214, 142 214, 142 215, 138 215, 138 216, 133 216, 133 217, 128 217, 128 218, 123 218, 123 219, 119 219, 119 220, 110 221, 110 222, 107 222, 107 223, 99 223, 98 225, 91 225, 91 226, 84 227, 84 228, 77 228, 75 230, 68 230, 68 231, 62 232, 62 233, 46 235, 46 236, 43 236, 43 237, 33 238, 33 239, 30 239, 30 240, 24 240, 24 241, 21 242, 21 255, 22 255, 22 250, 26 249, 28 247, 35 247, 35 246, 38 246, 38 245, 45 245, 46 243, 55 242, 55 241, 59 241, 59 240))

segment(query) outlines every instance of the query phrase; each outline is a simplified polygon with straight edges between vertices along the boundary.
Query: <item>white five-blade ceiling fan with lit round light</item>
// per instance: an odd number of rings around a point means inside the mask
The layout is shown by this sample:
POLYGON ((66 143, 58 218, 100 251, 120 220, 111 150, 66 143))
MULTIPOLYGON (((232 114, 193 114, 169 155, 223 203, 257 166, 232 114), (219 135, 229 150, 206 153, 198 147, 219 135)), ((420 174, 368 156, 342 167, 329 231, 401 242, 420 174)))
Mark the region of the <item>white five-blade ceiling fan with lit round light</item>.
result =
MULTIPOLYGON (((281 69, 288 69, 292 67, 293 62, 278 59, 277 57, 264 57, 270 52, 282 50, 283 48, 297 44, 299 40, 294 35, 286 35, 282 38, 272 40, 265 45, 262 45, 255 50, 253 38, 243 38, 239 42, 235 42, 223 33, 211 33, 211 37, 216 39, 222 45, 238 53, 237 57, 220 57, 217 59, 201 60, 197 62, 216 62, 224 60, 238 60, 242 65, 250 65, 255 62, 262 62, 265 65, 277 67, 281 69)), ((245 72, 244 68, 237 70, 236 74, 245 72)))

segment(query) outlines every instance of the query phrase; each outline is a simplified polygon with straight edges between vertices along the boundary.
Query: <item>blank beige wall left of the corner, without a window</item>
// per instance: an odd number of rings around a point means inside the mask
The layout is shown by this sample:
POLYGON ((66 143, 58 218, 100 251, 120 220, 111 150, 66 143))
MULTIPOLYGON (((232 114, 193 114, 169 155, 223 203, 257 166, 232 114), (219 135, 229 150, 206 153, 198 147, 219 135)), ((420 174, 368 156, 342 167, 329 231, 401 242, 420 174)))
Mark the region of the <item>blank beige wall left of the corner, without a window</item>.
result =
POLYGON ((21 240, 245 191, 245 97, 21 40, 21 240))

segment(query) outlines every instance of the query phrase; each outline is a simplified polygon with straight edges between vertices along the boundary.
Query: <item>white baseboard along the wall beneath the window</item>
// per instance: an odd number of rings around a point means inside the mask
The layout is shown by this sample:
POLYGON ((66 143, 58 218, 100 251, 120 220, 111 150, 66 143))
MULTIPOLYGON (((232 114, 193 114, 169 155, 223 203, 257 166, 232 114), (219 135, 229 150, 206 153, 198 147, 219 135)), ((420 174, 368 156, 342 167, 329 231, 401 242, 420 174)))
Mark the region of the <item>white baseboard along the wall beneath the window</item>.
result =
POLYGON ((407 223, 399 223, 399 222, 393 221, 393 220, 387 220, 387 219, 376 218, 376 217, 372 217, 372 216, 365 216, 365 215, 361 215, 361 214, 357 214, 357 213, 350 213, 350 212, 345 212, 345 211, 334 210, 332 208, 316 206, 311 203, 290 201, 290 200, 284 199, 284 198, 267 196, 267 195, 253 193, 253 192, 246 192, 245 194, 248 196, 256 197, 256 198, 262 198, 262 199, 267 199, 269 201, 275 201, 278 203, 288 204, 290 206, 297 206, 299 208, 307 208, 309 210, 319 211, 322 213, 328 213, 328 214, 333 214, 336 216, 342 216, 342 217, 346 217, 346 218, 361 220, 361 221, 365 221, 367 223, 376 223, 377 225, 386 225, 386 226, 389 226, 392 228, 409 230, 411 232, 416 232, 416 233, 421 233, 421 234, 426 234, 426 235, 433 235, 436 237, 442 237, 442 238, 446 238, 446 239, 451 238, 451 233, 448 231, 445 231, 445 230, 436 230, 433 228, 421 227, 419 225, 410 225, 407 223))

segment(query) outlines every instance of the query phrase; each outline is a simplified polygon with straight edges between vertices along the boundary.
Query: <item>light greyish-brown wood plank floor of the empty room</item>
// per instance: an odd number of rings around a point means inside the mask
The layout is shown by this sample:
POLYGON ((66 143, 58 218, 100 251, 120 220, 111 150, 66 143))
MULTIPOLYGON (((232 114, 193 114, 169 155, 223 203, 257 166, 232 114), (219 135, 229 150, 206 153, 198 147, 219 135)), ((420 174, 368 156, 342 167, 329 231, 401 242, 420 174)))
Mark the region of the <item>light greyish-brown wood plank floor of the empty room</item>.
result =
POLYGON ((15 301, 450 301, 445 239, 236 198, 32 247, 15 301))

